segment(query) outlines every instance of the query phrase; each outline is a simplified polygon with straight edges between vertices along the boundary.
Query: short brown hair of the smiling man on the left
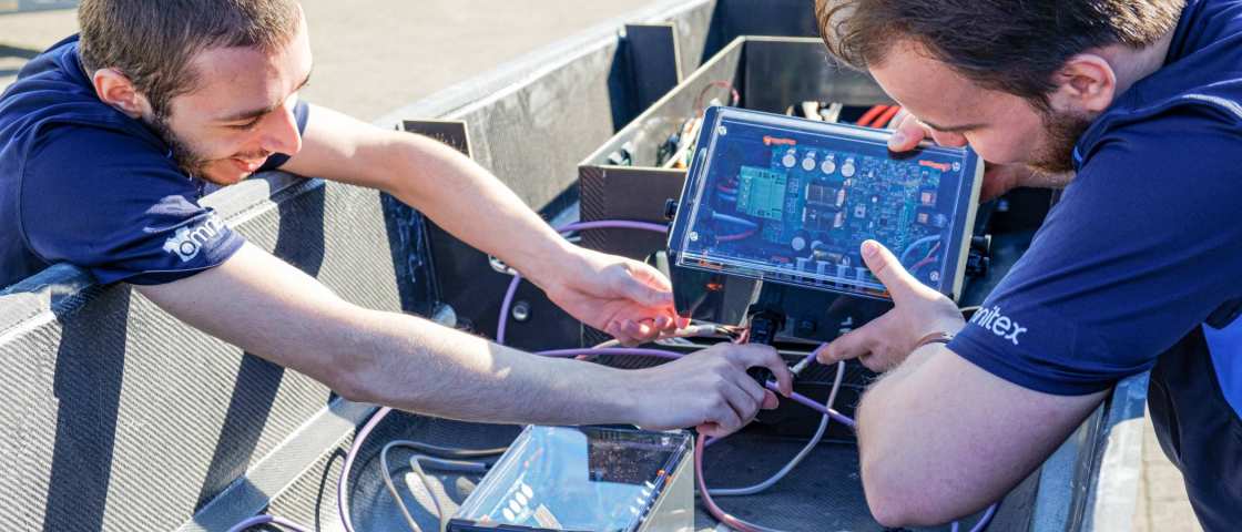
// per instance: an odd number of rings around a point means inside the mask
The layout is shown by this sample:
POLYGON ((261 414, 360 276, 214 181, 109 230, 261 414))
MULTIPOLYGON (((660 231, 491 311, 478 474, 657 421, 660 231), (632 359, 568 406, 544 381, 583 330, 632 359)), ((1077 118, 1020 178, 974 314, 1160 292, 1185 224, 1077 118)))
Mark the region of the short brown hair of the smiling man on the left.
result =
POLYGON ((294 0, 82 0, 78 56, 93 73, 116 68, 143 93, 155 113, 190 92, 201 51, 248 46, 273 51, 297 33, 294 0))

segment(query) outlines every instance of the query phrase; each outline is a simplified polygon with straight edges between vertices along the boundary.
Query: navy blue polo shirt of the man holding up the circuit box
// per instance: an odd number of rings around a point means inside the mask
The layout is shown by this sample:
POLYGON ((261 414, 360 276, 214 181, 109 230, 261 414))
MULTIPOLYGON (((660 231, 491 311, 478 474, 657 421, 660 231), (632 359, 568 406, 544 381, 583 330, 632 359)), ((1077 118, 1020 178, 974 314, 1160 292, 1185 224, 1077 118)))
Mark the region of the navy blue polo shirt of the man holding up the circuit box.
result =
POLYGON ((1153 373, 1153 397, 1171 399, 1151 403, 1158 432, 1177 443, 1170 458, 1203 525, 1236 526, 1242 1, 1189 1, 1165 64, 1094 120, 1074 162, 1030 249, 949 347, 1010 382, 1067 396, 1159 361, 1167 371, 1153 373))

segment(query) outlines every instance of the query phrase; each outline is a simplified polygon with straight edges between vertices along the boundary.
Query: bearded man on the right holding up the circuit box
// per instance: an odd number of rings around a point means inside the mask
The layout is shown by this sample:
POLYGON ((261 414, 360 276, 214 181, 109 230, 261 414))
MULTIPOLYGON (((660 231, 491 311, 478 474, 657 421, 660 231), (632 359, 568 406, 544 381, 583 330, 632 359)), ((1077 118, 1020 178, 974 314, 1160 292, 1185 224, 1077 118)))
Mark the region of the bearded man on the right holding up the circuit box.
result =
POLYGON ((1242 2, 817 0, 828 48, 907 110, 889 148, 972 146, 985 193, 1064 187, 965 322, 863 244, 889 314, 820 360, 887 371, 858 409, 884 525, 977 511, 1119 379, 1149 409, 1205 528, 1242 523, 1242 2))

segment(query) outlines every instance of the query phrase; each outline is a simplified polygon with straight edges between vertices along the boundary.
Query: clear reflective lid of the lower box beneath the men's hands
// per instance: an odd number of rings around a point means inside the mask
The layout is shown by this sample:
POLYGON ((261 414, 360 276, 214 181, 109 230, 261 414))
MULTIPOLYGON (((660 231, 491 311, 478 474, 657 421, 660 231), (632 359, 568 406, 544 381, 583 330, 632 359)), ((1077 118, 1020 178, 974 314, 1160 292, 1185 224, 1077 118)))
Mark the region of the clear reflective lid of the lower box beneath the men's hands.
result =
POLYGON ((453 521, 556 531, 633 531, 681 460, 687 433, 528 427, 453 521))

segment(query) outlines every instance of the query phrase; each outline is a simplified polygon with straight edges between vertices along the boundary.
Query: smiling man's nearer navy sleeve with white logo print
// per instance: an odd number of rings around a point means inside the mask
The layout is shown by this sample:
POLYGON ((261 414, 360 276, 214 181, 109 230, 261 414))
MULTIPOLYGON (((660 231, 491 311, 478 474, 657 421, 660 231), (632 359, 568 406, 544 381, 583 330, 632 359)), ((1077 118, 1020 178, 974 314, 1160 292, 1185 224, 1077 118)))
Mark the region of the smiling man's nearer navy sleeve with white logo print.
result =
POLYGON ((195 181, 134 135, 57 126, 22 172, 21 229, 48 263, 107 284, 163 284, 220 265, 243 244, 195 181))

